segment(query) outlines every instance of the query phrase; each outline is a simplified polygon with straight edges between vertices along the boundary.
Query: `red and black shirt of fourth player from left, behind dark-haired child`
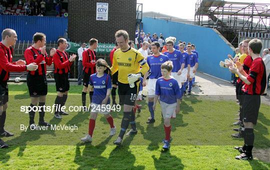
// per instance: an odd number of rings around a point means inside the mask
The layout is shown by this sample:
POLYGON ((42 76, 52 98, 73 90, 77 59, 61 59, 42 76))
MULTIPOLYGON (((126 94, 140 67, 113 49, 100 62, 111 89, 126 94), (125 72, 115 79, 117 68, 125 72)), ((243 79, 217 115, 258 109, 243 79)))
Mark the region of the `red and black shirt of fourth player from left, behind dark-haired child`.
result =
POLYGON ((96 72, 95 70, 95 51, 87 50, 82 52, 82 65, 83 71, 87 74, 93 74, 96 72))

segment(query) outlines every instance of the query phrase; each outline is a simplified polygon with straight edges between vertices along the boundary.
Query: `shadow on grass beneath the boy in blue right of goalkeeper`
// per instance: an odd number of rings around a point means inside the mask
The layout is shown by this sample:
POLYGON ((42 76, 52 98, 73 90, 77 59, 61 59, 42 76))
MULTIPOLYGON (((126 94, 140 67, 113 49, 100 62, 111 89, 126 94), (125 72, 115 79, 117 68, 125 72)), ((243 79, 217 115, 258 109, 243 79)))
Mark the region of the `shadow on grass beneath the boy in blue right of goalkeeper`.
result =
POLYGON ((157 159, 152 155, 154 160, 155 169, 167 169, 168 167, 173 167, 173 169, 183 169, 184 165, 181 163, 181 159, 171 155, 169 150, 160 152, 160 156, 157 159))

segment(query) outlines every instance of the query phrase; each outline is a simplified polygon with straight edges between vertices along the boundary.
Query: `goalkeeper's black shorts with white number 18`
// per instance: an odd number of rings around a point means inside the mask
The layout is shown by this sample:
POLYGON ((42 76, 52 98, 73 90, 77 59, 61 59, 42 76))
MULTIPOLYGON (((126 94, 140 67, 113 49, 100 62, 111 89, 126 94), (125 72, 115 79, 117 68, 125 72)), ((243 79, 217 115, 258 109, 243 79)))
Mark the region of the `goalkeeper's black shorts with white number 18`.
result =
POLYGON ((122 98, 124 104, 134 105, 138 94, 139 82, 139 79, 134 82, 133 88, 130 88, 129 83, 118 82, 119 97, 122 98))

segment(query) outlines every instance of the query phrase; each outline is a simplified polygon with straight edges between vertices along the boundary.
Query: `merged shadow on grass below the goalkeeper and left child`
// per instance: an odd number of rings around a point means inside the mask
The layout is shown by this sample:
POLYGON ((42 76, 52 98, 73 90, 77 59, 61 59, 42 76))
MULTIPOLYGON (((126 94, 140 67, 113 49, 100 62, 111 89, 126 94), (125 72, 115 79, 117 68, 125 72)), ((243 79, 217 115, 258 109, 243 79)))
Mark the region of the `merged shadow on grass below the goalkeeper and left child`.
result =
POLYGON ((80 144, 77 144, 74 162, 79 165, 78 169, 144 169, 144 166, 134 166, 135 156, 131 154, 129 149, 133 136, 126 137, 122 146, 116 146, 108 158, 102 156, 101 154, 105 151, 110 139, 111 136, 96 146, 87 143, 82 153, 80 152, 80 144))

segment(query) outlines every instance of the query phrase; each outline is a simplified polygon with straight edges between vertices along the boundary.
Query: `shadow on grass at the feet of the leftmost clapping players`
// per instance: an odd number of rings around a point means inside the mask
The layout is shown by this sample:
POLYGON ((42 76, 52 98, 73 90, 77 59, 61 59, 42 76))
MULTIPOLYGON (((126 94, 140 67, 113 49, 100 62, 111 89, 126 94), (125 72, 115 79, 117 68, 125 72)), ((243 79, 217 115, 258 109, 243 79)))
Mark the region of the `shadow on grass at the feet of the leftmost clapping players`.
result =
MULTIPOLYGON (((12 150, 15 150, 17 147, 19 148, 17 156, 23 156, 23 151, 26 148, 27 145, 29 145, 27 142, 35 141, 40 138, 41 135, 44 134, 50 134, 55 136, 55 133, 53 130, 29 130, 30 127, 28 127, 27 131, 22 131, 19 136, 14 137, 10 140, 7 140, 6 143, 9 144, 9 147, 6 149, 1 149, 0 152, 0 161, 5 163, 10 159, 10 155, 8 154, 12 150)), ((47 145, 47 141, 43 141, 45 143, 38 143, 39 145, 47 145)))

